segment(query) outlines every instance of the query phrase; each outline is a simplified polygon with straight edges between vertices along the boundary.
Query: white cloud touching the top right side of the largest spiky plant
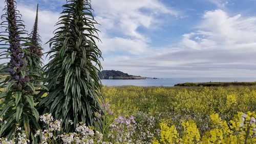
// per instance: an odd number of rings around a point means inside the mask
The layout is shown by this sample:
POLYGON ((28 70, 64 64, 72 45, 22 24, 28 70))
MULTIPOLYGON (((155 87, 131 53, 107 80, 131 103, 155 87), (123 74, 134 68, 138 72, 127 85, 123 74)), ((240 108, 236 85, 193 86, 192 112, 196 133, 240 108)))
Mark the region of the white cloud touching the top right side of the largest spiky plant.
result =
POLYGON ((158 18, 159 15, 179 15, 177 10, 166 7, 159 0, 95 0, 92 6, 95 19, 101 24, 98 26, 102 32, 99 46, 105 54, 118 51, 138 55, 148 51, 150 38, 138 28, 160 26, 164 19, 158 18))

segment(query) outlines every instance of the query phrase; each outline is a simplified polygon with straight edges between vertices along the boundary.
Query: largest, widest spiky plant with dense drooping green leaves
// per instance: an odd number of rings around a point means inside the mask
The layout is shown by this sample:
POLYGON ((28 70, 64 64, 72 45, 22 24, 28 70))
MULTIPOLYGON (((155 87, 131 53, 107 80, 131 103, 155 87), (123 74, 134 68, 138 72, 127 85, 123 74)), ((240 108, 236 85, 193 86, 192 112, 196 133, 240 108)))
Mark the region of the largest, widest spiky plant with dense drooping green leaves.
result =
POLYGON ((62 119, 66 132, 74 131, 81 121, 89 126, 96 125, 95 113, 101 111, 99 99, 101 82, 101 51, 96 46, 97 29, 91 8, 91 1, 67 1, 59 28, 50 39, 52 60, 46 66, 46 83, 49 93, 40 105, 45 112, 62 119), (69 120, 74 124, 69 125, 69 120))

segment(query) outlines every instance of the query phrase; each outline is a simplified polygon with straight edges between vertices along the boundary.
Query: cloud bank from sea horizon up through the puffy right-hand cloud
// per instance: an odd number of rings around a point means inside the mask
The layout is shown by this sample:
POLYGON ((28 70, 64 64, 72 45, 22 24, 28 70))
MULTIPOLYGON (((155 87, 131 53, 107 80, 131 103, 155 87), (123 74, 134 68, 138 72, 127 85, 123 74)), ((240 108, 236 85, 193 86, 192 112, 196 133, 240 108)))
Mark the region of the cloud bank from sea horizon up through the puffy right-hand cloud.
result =
POLYGON ((183 35, 179 51, 110 61, 106 69, 154 77, 255 77, 256 17, 207 11, 197 29, 183 35))

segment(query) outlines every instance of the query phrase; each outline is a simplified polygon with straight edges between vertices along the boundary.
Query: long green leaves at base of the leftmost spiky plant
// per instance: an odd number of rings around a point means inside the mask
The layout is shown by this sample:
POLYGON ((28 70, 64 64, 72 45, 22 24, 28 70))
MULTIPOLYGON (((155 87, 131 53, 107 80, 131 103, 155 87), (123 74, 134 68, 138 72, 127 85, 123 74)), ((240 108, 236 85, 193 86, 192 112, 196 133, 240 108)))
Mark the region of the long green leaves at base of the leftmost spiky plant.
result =
POLYGON ((35 93, 30 89, 33 84, 28 83, 22 91, 13 90, 14 84, 15 82, 11 81, 8 85, 1 87, 4 91, 0 93, 0 98, 4 100, 0 104, 0 117, 3 117, 3 121, 7 123, 1 127, 0 135, 12 139, 17 134, 15 133, 16 127, 20 127, 20 130, 26 131, 27 137, 36 143, 33 135, 36 130, 40 129, 40 126, 38 124, 39 113, 35 109, 32 96, 35 93))

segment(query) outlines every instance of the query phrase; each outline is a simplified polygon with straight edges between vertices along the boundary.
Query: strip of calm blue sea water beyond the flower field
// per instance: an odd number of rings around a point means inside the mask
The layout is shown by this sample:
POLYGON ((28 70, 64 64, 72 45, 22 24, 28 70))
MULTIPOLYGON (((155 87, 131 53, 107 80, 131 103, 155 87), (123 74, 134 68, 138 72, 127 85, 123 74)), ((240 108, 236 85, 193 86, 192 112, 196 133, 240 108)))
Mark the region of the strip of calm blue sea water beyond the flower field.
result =
POLYGON ((232 82, 232 81, 256 81, 256 78, 161 78, 161 79, 139 79, 139 80, 116 80, 102 79, 104 86, 174 86, 179 83, 200 83, 200 82, 232 82))

